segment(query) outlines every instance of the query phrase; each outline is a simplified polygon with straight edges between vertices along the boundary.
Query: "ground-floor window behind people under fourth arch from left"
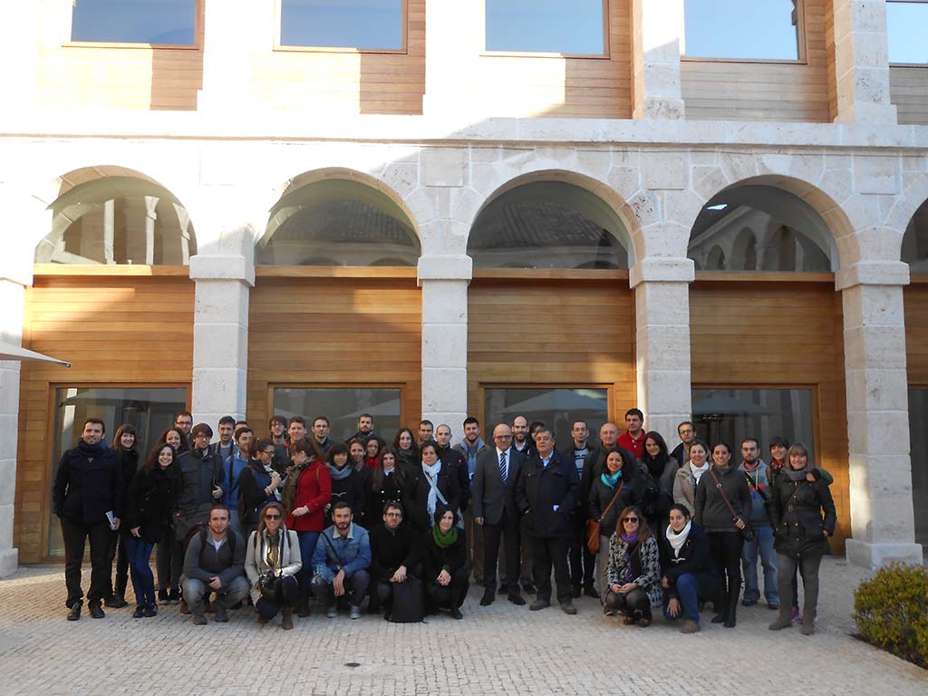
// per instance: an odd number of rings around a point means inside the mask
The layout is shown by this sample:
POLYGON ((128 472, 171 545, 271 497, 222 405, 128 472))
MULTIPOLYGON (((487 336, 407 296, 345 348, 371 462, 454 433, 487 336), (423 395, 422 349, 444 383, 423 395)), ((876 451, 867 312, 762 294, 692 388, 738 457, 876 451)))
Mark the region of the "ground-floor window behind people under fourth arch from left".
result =
POLYGON ((710 447, 725 442, 737 459, 741 441, 753 437, 768 461, 767 444, 780 436, 815 457, 811 389, 694 389, 692 399, 696 432, 710 447))

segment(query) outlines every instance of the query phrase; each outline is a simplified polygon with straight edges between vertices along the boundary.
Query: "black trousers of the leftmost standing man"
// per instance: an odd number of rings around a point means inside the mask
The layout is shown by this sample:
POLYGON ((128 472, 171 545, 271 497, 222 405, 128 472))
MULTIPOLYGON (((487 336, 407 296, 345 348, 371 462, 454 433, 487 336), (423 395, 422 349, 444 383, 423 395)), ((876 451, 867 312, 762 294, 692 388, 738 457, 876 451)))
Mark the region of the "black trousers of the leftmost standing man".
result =
POLYGON ((107 596, 112 574, 112 530, 104 520, 97 524, 85 524, 82 520, 62 517, 61 536, 64 539, 64 582, 68 587, 68 608, 84 598, 81 589, 81 566, 84 563, 84 545, 90 540, 90 590, 87 599, 99 604, 107 596))

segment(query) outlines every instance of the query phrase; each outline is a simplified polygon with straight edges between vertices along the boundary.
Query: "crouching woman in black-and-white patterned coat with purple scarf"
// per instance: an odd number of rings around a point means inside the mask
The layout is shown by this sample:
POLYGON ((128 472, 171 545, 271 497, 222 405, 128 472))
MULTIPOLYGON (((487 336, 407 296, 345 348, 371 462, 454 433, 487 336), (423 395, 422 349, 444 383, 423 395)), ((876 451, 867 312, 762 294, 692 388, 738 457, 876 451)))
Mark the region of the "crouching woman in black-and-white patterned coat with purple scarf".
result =
POLYGON ((625 625, 651 625, 651 607, 661 606, 661 554, 648 522, 636 507, 625 508, 609 540, 606 608, 625 614, 625 625))

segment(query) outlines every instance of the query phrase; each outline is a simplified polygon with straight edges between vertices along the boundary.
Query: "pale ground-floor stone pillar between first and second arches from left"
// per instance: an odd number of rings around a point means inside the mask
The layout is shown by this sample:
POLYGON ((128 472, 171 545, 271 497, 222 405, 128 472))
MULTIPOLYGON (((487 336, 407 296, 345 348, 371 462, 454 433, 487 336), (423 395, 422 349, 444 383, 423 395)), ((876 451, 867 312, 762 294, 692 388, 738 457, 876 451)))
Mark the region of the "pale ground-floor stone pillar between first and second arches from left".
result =
POLYGON ((215 428, 223 416, 245 417, 248 300, 254 266, 242 256, 190 258, 197 282, 193 318, 193 420, 215 428))

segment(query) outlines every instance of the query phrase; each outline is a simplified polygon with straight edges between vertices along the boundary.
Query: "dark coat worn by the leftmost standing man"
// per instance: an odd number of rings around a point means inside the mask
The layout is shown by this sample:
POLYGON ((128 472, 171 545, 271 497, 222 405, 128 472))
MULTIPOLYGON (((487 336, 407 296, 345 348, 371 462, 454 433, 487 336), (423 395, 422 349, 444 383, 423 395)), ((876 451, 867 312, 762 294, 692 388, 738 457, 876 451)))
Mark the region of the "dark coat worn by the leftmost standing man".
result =
POLYGON ((52 506, 58 517, 84 524, 108 523, 107 512, 122 518, 122 466, 116 451, 97 450, 82 440, 58 462, 52 485, 52 506))

